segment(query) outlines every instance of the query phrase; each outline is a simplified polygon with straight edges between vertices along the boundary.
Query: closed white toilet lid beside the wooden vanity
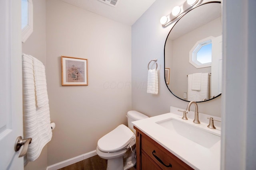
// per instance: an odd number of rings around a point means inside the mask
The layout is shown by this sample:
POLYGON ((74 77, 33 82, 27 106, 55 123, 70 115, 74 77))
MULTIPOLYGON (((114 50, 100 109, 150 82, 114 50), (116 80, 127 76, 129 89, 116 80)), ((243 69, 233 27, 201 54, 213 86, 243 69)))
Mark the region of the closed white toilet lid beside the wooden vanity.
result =
POLYGON ((126 125, 119 125, 98 140, 98 149, 103 152, 116 152, 124 149, 134 138, 135 135, 131 129, 126 125))

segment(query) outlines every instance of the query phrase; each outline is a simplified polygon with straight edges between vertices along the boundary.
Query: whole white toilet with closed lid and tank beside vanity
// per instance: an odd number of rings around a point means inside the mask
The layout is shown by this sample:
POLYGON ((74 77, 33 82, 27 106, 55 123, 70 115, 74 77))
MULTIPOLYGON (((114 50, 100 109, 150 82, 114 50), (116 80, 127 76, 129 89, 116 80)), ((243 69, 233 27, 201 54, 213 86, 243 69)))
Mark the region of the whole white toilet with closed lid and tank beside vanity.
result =
POLYGON ((128 111, 128 127, 119 125, 98 140, 96 153, 108 160, 107 170, 127 170, 136 164, 136 131, 132 121, 146 119, 148 116, 138 111, 128 111))

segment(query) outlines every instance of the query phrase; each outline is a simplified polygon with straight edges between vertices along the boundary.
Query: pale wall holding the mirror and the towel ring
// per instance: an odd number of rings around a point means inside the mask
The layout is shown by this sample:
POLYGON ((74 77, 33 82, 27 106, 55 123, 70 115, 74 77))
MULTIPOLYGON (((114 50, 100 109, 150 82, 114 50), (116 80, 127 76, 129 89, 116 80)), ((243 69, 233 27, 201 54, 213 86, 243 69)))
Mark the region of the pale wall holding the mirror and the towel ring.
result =
MULTIPOLYGON (((132 109, 148 116, 170 112, 170 106, 186 108, 184 102, 170 93, 164 81, 164 43, 172 28, 162 27, 160 18, 168 15, 174 6, 184 0, 156 0, 154 4, 132 25, 132 109), (147 64, 158 59, 158 95, 147 94, 147 64), (144 86, 138 86, 138 85, 144 86)), ((199 112, 220 117, 221 97, 198 103, 199 112)), ((192 108, 194 109, 194 108, 192 108)))

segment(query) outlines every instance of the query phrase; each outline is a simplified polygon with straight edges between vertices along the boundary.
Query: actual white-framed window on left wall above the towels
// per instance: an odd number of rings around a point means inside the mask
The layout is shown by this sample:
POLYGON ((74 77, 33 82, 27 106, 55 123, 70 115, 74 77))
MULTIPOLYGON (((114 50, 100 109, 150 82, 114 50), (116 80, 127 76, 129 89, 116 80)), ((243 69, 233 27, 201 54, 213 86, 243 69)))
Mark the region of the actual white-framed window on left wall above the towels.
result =
POLYGON ((21 29, 24 43, 33 32, 33 3, 32 0, 21 0, 21 29))

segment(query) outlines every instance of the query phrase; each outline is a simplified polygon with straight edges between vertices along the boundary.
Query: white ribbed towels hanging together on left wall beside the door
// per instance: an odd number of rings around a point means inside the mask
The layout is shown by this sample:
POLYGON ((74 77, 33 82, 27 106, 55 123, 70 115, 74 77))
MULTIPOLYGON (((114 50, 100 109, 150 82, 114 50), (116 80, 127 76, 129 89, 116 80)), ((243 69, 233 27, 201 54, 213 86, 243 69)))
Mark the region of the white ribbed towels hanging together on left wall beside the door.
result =
POLYGON ((52 139, 52 130, 44 65, 34 57, 23 54, 22 75, 24 138, 32 138, 26 162, 34 161, 40 156, 43 147, 52 139))

